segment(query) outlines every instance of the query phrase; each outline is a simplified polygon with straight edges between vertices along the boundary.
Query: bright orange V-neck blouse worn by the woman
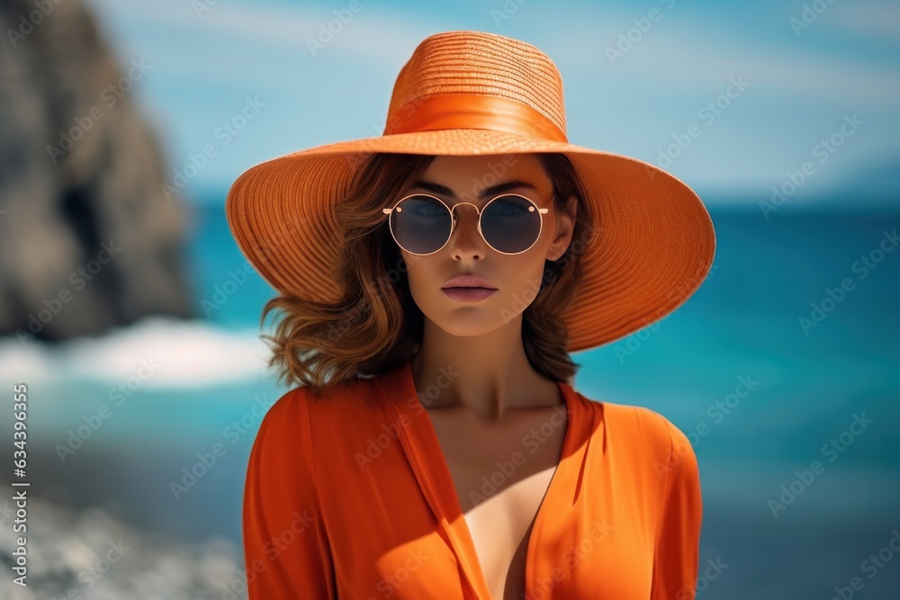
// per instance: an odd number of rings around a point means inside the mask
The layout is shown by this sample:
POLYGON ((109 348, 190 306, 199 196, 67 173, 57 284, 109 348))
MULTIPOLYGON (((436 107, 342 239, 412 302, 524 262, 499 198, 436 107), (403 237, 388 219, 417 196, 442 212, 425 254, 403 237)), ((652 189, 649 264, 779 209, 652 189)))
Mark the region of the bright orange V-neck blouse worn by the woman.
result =
MULTIPOLYGON (((702 521, 698 462, 646 408, 559 383, 563 456, 527 546, 526 599, 689 600, 702 521)), ((247 465, 250 600, 489 600, 410 361, 266 413, 247 465)))

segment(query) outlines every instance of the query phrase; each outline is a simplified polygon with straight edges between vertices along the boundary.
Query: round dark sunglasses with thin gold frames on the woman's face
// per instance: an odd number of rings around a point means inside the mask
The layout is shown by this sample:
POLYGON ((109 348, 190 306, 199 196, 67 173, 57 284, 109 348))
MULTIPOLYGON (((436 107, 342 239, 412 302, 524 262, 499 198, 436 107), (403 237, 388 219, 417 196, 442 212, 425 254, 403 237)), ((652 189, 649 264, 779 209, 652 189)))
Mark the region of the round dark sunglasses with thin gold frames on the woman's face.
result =
MULTIPOLYGON (((551 198, 554 201, 556 195, 551 198)), ((457 202, 449 207, 437 196, 413 193, 391 209, 391 235, 398 246, 411 255, 433 255, 446 246, 456 228, 454 209, 471 204, 478 212, 478 233, 488 246, 504 255, 518 255, 534 246, 544 228, 542 209, 535 201, 518 193, 494 196, 479 210, 472 202, 457 202)))

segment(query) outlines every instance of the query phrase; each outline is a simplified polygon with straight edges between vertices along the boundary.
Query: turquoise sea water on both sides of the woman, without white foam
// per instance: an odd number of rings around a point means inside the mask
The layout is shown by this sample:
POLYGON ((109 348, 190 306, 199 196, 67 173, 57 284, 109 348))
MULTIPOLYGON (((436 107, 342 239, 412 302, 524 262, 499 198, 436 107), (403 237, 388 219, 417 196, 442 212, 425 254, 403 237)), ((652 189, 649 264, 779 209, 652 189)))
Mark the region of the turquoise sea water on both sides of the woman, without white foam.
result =
MULTIPOLYGON (((694 441, 701 563, 728 565, 699 597, 831 598, 852 577, 865 582, 856 597, 898 597, 900 556, 871 578, 862 562, 889 549, 900 528, 900 248, 873 254, 890 246, 885 232, 900 229, 900 212, 785 208, 768 220, 759 210, 710 212, 718 246, 707 281, 658 327, 575 354, 575 387, 591 399, 651 407, 694 441), (862 256, 880 262, 863 270, 862 256), (841 296, 842 282, 851 289, 841 296), (828 289, 841 300, 805 332, 800 318, 812 318, 811 304, 822 305, 828 289), (821 469, 804 483, 815 461, 821 469), (782 486, 799 493, 776 516, 771 502, 782 486)), ((244 259, 223 210, 200 211, 195 225, 188 259, 199 307, 244 259)), ((273 294, 251 273, 206 327, 252 340, 273 294)), ((270 406, 284 390, 264 373, 148 387, 61 462, 54 444, 107 401, 110 387, 77 374, 32 386, 39 398, 64 399, 32 405, 31 428, 48 448, 32 464, 53 481, 44 491, 184 538, 239 540, 258 426, 252 407, 270 406), (228 428, 241 418, 247 430, 236 435, 228 428), (175 497, 171 483, 215 443, 225 449, 216 464, 175 497)))

